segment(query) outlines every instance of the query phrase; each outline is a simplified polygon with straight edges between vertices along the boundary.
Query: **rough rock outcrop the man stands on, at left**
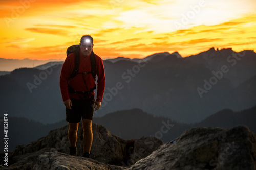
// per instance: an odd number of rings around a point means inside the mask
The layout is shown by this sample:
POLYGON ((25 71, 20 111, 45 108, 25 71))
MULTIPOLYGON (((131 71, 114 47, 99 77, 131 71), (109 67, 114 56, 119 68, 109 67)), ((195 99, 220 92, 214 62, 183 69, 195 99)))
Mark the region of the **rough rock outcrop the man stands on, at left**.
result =
POLYGON ((35 142, 27 145, 18 145, 9 154, 11 165, 5 168, 122 169, 124 167, 130 167, 141 158, 150 155, 163 144, 163 141, 153 136, 142 137, 136 140, 124 140, 112 135, 105 127, 93 123, 93 144, 91 149, 93 159, 89 159, 81 157, 83 138, 82 123, 79 123, 77 136, 76 157, 68 155, 69 140, 67 125, 51 130, 47 136, 35 142))

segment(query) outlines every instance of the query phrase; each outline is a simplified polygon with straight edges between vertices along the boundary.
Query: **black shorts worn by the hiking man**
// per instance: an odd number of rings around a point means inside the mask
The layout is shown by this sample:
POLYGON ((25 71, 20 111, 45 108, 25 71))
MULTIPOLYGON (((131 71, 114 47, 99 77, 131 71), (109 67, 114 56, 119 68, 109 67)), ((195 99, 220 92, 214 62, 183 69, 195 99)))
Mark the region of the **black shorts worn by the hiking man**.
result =
POLYGON ((94 95, 90 99, 70 99, 71 109, 66 108, 66 120, 69 123, 78 123, 81 119, 93 120, 94 95))

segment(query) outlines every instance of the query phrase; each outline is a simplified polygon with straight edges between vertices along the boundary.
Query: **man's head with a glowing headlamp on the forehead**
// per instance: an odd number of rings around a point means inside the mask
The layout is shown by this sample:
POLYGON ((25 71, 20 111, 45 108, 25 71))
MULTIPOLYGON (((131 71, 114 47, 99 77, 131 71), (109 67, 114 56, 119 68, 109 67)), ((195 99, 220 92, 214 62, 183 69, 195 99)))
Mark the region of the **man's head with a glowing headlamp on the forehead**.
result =
POLYGON ((79 45, 82 54, 86 57, 93 51, 93 38, 90 35, 84 35, 81 37, 79 45))

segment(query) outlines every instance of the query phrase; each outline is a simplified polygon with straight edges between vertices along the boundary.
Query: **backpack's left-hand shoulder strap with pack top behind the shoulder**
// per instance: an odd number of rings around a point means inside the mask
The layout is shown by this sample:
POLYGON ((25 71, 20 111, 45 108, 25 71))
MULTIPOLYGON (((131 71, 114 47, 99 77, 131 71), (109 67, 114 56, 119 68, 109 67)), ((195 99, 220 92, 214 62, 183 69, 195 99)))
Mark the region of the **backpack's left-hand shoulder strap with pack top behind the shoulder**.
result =
POLYGON ((80 46, 79 45, 72 45, 67 49, 67 56, 71 53, 75 53, 75 66, 73 72, 70 75, 70 79, 75 77, 78 74, 79 70, 79 62, 80 62, 80 46))

